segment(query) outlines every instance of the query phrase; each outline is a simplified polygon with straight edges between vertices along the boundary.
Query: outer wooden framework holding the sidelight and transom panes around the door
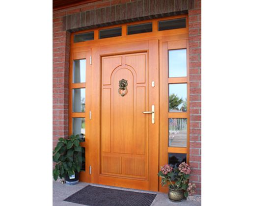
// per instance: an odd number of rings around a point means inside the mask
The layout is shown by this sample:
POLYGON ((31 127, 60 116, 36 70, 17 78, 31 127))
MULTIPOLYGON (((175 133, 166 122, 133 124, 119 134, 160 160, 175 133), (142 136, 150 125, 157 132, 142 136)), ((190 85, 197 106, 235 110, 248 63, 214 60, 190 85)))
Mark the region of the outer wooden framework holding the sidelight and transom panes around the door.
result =
MULTIPOLYGON (((187 155, 187 163, 189 163, 190 156, 190 73, 189 73, 189 19, 188 15, 178 15, 171 16, 159 19, 150 19, 144 21, 138 21, 133 23, 125 23, 121 25, 113 25, 113 26, 105 26, 99 28, 93 28, 78 32, 71 33, 70 39, 70 70, 69 70, 69 135, 72 134, 72 118, 74 117, 83 117, 87 121, 89 119, 89 110, 91 110, 91 100, 92 100, 92 91, 89 90, 91 88, 91 82, 87 81, 87 78, 91 75, 92 66, 90 65, 90 55, 91 48, 96 48, 100 46, 106 46, 111 44, 117 44, 118 42, 133 42, 133 41, 144 41, 157 39, 159 41, 159 169, 164 164, 168 163, 168 153, 183 153, 187 155), (185 28, 177 28, 170 30, 158 31, 158 22, 169 19, 178 19, 178 18, 186 18, 186 27, 185 28), (152 23, 152 32, 146 33, 138 33, 127 35, 127 26, 130 25, 139 25, 144 23, 152 23), (122 27, 122 35, 117 37, 110 37, 99 39, 99 30, 114 28, 114 27, 122 27), (74 34, 86 33, 94 31, 94 40, 89 40, 85 42, 74 43, 74 34), (187 77, 168 77, 168 50, 176 50, 176 49, 186 49, 187 50, 187 77), (86 59, 86 80, 85 83, 72 83, 73 78, 73 60, 76 59, 86 59), (168 112, 168 84, 169 83, 187 83, 187 112, 168 112), (73 88, 85 88, 85 112, 72 112, 72 89, 73 88), (168 147, 168 118, 187 118, 187 147, 168 147)), ((89 128, 85 128, 85 142, 82 142, 82 147, 85 147, 86 154, 90 154, 89 147, 90 139, 89 137, 90 131, 89 128)), ((91 156, 86 155, 86 160, 91 156)), ((85 165, 85 172, 89 172, 88 165, 85 165)), ((90 180, 83 180, 86 182, 90 182, 90 180)), ((159 191, 167 192, 167 187, 162 187, 159 179, 159 191)))

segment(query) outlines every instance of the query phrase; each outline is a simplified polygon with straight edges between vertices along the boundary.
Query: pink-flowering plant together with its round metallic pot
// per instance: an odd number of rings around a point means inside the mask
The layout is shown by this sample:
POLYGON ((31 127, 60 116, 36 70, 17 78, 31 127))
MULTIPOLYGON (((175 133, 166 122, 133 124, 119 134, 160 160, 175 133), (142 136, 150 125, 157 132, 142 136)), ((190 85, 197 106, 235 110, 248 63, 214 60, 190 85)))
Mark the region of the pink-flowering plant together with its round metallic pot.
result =
POLYGON ((168 164, 161 167, 158 175, 162 178, 162 186, 168 184, 168 198, 170 201, 181 202, 183 199, 186 199, 188 195, 195 193, 195 184, 188 183, 190 172, 191 168, 185 162, 182 162, 175 168, 168 164))

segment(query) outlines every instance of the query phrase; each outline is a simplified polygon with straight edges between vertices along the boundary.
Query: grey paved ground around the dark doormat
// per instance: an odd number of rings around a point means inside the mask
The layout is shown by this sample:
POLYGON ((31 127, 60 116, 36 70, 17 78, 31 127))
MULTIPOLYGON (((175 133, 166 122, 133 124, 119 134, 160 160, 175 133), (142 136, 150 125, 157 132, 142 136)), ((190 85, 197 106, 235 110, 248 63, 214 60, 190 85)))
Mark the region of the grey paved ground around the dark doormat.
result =
MULTIPOLYGON (((65 202, 63 200, 69 197, 70 195, 74 194, 75 192, 81 190, 86 185, 88 185, 88 183, 80 182, 76 185, 69 186, 66 184, 61 184, 60 182, 53 181, 53 206, 83 206, 80 204, 65 202)), ((90 184, 90 185, 108 187, 108 188, 117 188, 117 187, 110 187, 110 186, 96 185, 96 184, 90 184)), ((125 188, 119 188, 119 189, 137 191, 137 192, 140 191, 140 190, 134 190, 134 189, 125 189, 125 188)), ((148 192, 148 193, 156 194, 155 192, 148 192)), ((201 206, 201 202, 186 200, 180 203, 172 203, 169 201, 167 194, 157 192, 157 197, 155 198, 151 206, 201 206)))

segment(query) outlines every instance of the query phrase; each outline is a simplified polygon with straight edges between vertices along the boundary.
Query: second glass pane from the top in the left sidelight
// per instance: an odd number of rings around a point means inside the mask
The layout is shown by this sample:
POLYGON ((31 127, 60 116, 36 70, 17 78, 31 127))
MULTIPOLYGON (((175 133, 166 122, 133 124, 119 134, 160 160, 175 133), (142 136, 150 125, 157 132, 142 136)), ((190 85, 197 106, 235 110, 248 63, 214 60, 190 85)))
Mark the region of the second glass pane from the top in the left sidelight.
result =
POLYGON ((73 112, 85 112, 85 88, 73 89, 73 112))

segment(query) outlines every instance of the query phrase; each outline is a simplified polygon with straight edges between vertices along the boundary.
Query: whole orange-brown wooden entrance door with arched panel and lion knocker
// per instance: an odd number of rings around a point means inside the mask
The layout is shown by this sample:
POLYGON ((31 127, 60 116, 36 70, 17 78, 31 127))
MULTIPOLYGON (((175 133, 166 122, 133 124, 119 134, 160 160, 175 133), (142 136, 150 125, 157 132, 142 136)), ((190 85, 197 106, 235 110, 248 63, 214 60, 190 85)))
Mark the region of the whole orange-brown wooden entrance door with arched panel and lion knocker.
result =
POLYGON ((91 180, 158 191, 158 40, 91 53, 91 180))

